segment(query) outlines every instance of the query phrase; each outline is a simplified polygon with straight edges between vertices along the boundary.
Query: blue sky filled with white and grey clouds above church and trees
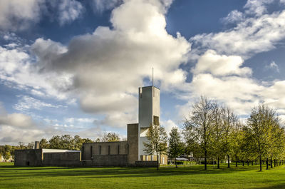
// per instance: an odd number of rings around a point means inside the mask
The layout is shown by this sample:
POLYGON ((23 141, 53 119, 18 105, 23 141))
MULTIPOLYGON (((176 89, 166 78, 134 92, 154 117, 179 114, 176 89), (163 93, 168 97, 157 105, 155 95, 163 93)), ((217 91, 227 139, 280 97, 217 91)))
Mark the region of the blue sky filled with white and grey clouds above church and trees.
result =
POLYGON ((167 131, 199 96, 285 118, 284 42, 284 0, 2 0, 0 145, 125 138, 152 67, 167 131))

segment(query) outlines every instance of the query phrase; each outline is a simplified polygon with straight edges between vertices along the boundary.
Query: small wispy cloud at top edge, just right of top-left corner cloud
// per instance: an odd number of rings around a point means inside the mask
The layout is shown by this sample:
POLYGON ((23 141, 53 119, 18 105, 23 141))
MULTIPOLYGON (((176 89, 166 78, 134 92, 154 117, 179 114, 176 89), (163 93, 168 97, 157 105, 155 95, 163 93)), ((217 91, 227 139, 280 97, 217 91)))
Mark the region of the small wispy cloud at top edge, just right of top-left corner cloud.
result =
POLYGON ((76 0, 62 0, 58 5, 59 24, 63 25, 78 19, 83 12, 83 6, 76 0))

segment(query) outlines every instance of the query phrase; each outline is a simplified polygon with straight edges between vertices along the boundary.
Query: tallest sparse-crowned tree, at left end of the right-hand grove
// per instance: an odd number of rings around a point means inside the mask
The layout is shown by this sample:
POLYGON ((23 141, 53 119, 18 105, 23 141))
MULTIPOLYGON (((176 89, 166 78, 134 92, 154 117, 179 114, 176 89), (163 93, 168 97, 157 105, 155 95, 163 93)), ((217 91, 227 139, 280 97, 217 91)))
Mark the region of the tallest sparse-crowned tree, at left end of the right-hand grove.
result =
POLYGON ((189 118, 184 121, 187 136, 199 143, 204 152, 204 170, 207 170, 207 153, 211 148, 213 110, 213 103, 201 96, 200 100, 193 104, 189 118))

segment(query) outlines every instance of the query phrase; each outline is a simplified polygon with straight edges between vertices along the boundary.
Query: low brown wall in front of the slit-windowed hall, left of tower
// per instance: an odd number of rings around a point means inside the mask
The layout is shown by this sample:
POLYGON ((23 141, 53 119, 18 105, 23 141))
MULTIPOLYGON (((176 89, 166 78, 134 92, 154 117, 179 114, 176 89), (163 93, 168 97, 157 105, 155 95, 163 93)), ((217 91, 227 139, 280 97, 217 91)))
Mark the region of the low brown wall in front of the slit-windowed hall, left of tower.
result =
POLYGON ((93 155, 92 165, 125 167, 128 165, 128 155, 93 155))

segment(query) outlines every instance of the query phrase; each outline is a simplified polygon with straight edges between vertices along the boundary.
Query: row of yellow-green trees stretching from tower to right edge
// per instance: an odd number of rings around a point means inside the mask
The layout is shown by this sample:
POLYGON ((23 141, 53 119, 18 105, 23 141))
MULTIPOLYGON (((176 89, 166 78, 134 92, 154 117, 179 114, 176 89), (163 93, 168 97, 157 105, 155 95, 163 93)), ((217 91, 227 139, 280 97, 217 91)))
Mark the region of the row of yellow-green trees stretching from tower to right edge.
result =
MULTIPOLYGON (((162 126, 151 126, 145 143, 148 154, 167 154, 176 160, 182 154, 202 160, 207 170, 209 160, 217 162, 266 163, 281 165, 285 158, 285 132, 274 109, 261 104, 252 108, 249 118, 242 122, 231 108, 201 97, 193 103, 183 121, 182 132, 172 128, 167 138, 162 126)), ((176 165, 176 161, 175 161, 176 165)))

